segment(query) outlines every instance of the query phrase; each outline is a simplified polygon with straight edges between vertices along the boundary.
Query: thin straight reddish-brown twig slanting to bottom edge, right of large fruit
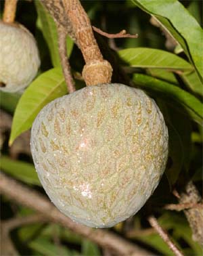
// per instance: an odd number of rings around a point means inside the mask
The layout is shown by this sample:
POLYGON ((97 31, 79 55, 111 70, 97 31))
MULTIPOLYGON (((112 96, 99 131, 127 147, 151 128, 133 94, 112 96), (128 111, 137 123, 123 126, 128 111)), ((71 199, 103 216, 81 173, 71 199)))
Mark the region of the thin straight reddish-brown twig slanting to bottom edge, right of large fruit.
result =
POLYGON ((181 253, 181 251, 179 251, 176 245, 171 241, 168 234, 162 229, 162 227, 159 225, 158 221, 153 215, 148 217, 148 221, 150 222, 150 225, 156 230, 156 232, 158 232, 164 242, 168 244, 168 247, 171 249, 171 251, 173 251, 173 253, 175 253, 175 255, 177 256, 183 256, 183 253, 181 253))

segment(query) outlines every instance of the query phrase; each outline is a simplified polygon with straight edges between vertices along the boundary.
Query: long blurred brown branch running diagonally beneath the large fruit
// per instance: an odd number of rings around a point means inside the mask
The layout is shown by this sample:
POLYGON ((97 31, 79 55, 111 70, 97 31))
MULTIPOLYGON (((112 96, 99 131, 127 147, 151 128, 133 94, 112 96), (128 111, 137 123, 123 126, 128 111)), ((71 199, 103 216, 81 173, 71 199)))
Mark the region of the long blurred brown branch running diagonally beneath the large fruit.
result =
POLYGON ((20 184, 20 182, 7 177, 3 173, 1 173, 0 191, 16 202, 43 214, 50 221, 59 223, 73 232, 89 238, 89 240, 96 242, 100 247, 108 247, 114 250, 117 255, 152 255, 116 234, 106 230, 94 230, 73 222, 70 218, 63 215, 47 198, 35 192, 35 190, 20 184))

